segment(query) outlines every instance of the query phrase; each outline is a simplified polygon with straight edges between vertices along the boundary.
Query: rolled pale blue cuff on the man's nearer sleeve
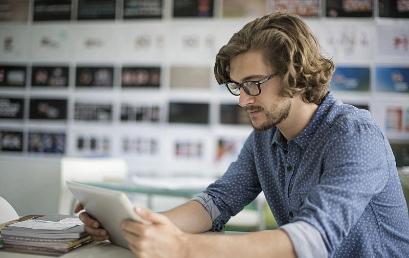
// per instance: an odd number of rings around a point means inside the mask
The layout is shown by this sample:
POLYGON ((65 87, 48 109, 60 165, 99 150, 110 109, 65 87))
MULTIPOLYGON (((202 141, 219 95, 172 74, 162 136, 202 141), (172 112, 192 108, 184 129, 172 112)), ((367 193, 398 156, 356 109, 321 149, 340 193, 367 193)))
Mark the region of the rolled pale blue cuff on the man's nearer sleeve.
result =
POLYGON ((304 221, 296 221, 280 227, 289 236, 298 258, 327 258, 328 251, 321 234, 304 221))

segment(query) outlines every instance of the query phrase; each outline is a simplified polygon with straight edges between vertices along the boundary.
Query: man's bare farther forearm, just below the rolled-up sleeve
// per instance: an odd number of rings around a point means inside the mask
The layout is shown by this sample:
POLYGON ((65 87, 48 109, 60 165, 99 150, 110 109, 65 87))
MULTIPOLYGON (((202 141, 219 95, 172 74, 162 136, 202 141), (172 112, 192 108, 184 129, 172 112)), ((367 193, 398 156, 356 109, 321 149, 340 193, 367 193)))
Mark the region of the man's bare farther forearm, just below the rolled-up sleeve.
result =
POLYGON ((212 218, 197 201, 188 201, 162 214, 187 233, 202 233, 212 228, 212 218))

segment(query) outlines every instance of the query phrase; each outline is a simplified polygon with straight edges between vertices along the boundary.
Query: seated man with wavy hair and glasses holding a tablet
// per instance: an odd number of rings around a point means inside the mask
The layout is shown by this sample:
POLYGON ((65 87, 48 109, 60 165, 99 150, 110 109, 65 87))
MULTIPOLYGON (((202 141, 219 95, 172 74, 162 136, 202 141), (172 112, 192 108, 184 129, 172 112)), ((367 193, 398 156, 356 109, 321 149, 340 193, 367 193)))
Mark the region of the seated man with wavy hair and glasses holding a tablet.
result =
MULTIPOLYGON (((387 138, 366 110, 328 92, 334 70, 297 15, 249 22, 216 56, 215 76, 254 131, 237 160, 186 204, 121 225, 137 257, 409 257, 409 216, 387 138), (280 228, 222 230, 263 191, 280 228)), ((78 213, 79 204, 75 208, 78 213)), ((85 212, 94 240, 107 232, 85 212)))

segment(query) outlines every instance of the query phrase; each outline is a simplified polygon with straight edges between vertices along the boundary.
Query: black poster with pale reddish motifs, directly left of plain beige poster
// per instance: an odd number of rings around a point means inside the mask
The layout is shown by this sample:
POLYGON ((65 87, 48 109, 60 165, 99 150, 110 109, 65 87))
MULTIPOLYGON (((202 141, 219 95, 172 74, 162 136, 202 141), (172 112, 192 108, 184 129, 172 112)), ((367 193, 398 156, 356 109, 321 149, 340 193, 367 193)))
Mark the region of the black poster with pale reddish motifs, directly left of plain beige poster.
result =
POLYGON ((154 87, 161 85, 160 67, 123 67, 122 87, 154 87))

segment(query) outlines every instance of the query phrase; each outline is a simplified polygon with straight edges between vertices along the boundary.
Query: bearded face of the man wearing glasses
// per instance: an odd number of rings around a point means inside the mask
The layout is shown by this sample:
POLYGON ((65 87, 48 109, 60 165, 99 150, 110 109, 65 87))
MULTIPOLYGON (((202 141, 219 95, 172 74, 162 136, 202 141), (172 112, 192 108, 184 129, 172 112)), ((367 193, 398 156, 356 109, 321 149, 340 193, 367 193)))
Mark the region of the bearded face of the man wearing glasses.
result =
MULTIPOLYGON (((238 83, 259 81, 276 71, 271 71, 259 51, 240 54, 230 60, 230 78, 238 83)), ((281 76, 260 85, 258 96, 249 96, 240 88, 239 105, 250 115, 256 131, 266 131, 282 123, 291 109, 291 98, 280 96, 281 76)))

